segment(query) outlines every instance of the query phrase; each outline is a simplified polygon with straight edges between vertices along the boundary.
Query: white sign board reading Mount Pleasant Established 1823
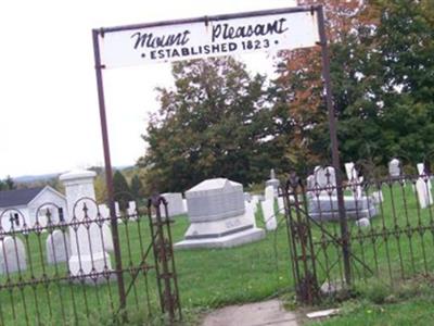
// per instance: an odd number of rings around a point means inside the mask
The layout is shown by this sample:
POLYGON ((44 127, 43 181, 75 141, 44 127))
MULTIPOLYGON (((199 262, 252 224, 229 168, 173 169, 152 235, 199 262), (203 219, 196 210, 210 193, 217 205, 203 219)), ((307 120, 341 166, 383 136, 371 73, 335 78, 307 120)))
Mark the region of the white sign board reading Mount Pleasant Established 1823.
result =
POLYGON ((312 47, 315 13, 298 12, 227 21, 167 25, 104 34, 106 67, 312 47))

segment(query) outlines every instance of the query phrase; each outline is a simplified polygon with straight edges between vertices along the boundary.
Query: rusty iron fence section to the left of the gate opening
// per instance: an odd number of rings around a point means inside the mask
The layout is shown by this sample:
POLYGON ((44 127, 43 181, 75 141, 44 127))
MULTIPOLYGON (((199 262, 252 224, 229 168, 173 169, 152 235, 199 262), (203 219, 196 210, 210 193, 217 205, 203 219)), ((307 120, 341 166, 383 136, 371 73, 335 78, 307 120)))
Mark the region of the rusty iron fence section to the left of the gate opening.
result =
POLYGON ((119 211, 82 198, 0 214, 0 325, 117 325, 181 318, 167 202, 119 211), (71 210, 69 210, 71 212, 71 210), (116 256, 113 223, 120 256, 116 256), (116 260, 122 260, 122 268, 116 260), (119 291, 122 277, 124 288, 119 291))

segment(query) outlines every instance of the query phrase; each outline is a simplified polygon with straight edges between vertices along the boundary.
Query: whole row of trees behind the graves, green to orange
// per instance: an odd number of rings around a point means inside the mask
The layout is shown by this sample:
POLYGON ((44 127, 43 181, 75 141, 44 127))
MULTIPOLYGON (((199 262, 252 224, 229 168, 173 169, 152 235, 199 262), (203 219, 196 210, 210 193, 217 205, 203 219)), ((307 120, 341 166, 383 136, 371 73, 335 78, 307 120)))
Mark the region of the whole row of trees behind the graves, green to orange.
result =
MULTIPOLYGON (((431 161, 434 2, 323 2, 342 162, 431 161)), ((320 49, 282 51, 275 67, 268 79, 232 58, 174 63, 175 87, 158 89, 142 136, 149 191, 219 176, 248 185, 270 168, 306 175, 330 164, 320 49)))

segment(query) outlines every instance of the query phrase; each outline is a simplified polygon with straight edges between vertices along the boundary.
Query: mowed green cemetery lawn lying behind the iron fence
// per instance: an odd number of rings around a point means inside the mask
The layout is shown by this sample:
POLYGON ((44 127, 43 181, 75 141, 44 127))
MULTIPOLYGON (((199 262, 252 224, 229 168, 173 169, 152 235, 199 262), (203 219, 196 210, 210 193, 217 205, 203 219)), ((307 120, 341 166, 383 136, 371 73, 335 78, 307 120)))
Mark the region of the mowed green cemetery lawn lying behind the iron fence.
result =
MULTIPOLYGON (((432 208, 419 210, 417 197, 410 185, 382 187, 384 202, 378 208, 379 216, 365 229, 348 222, 352 234, 352 272, 363 285, 379 276, 390 286, 398 279, 413 275, 427 275, 434 269, 430 254, 434 241, 432 208), (420 230, 411 230, 418 228, 420 230), (393 231, 395 230, 395 233, 393 231), (375 240, 372 240, 375 239, 375 240), (367 268, 369 267, 369 268, 367 268)), ((373 191, 376 189, 368 189, 373 191)), ((260 210, 257 224, 264 227, 260 210)), ((267 233, 266 238, 231 249, 179 250, 175 252, 180 302, 186 312, 208 310, 218 306, 260 301, 294 289, 291 254, 283 216, 280 226, 267 233)), ((178 216, 171 226, 174 242, 183 239, 189 226, 187 216, 178 216)), ((343 278, 342 248, 330 241, 340 238, 337 223, 312 225, 312 240, 317 258, 320 283, 343 278), (323 246, 321 240, 328 240, 323 246)), ((119 225, 128 315, 137 319, 158 323, 159 306, 155 272, 140 272, 133 280, 133 267, 141 265, 150 249, 148 217, 139 222, 119 225), (131 269, 129 269, 131 268, 131 269)), ((113 323, 119 306, 117 284, 103 281, 98 286, 75 284, 67 280, 51 281, 65 277, 65 263, 48 265, 46 258, 47 234, 22 237, 27 251, 27 269, 14 273, 9 278, 0 277, 0 324, 2 325, 107 325, 113 323), (30 264, 31 261, 31 264, 30 264), (30 268, 31 266, 31 268, 30 268), (46 280, 33 283, 34 280, 46 280), (25 281, 25 286, 8 287, 25 281)), ((145 262, 154 265, 152 250, 145 262)), ((115 266, 111 253, 112 267, 115 266)), ((414 303, 423 311, 422 300, 414 303)), ((363 303, 362 303, 363 304, 363 303)), ((363 318, 365 305, 354 310, 363 318)), ((370 304, 369 302, 367 304, 370 304)), ((405 302, 400 304, 405 305, 405 302)), ((411 304, 410 304, 411 305, 411 304)), ((405 310, 405 306, 401 308, 405 310)), ((410 309, 410 308, 408 308, 410 309)), ((391 310, 393 312, 393 310, 391 310)), ((371 310, 368 314, 375 315, 371 310)), ((118 315, 119 316, 119 315, 118 315)), ((343 319, 344 321, 344 319, 343 319)), ((345 322, 343 322, 345 323, 345 322)), ((349 322, 348 322, 349 323, 349 322)), ((346 324, 342 324, 346 325, 346 324)))

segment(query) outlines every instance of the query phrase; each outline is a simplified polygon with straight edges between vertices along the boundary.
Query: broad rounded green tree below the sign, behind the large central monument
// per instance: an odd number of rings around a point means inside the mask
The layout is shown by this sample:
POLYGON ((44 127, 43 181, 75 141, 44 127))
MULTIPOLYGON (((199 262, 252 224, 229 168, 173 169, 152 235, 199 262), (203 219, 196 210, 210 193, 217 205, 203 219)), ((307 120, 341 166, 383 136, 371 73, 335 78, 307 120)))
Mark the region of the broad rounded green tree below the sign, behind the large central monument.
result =
POLYGON ((272 164, 265 77, 231 58, 175 63, 173 75, 176 88, 159 89, 161 110, 143 136, 139 164, 151 190, 186 190, 209 177, 263 180, 272 164))

